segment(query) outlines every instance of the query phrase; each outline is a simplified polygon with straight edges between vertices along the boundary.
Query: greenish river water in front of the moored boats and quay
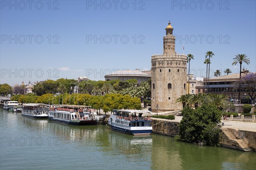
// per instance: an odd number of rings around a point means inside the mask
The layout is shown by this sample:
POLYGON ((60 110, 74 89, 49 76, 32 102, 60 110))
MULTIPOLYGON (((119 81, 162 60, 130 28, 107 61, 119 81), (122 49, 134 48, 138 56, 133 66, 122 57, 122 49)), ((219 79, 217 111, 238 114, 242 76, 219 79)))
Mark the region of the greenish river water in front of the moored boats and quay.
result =
POLYGON ((256 153, 70 126, 0 108, 0 170, 255 170, 256 153))

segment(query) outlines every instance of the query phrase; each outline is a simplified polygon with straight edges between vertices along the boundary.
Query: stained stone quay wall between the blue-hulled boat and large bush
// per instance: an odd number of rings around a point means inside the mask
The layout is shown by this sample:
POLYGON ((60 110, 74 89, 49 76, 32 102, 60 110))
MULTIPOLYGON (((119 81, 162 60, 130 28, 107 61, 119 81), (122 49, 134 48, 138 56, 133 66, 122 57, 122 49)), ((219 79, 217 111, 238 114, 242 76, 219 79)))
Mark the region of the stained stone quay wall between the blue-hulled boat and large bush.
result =
POLYGON ((167 136, 176 136, 179 133, 179 122, 173 122, 168 119, 152 118, 153 133, 167 136))

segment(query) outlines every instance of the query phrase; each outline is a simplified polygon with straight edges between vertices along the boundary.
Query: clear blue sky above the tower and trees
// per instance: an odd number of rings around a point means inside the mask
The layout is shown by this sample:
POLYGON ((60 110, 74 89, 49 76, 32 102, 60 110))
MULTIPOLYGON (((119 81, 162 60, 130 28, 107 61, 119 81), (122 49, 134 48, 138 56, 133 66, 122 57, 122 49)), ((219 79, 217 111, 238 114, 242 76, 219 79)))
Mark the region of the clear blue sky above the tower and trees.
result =
POLYGON ((117 69, 150 70, 151 55, 163 53, 169 20, 178 37, 175 51, 182 54, 184 44, 184 54, 194 55, 190 68, 197 77, 205 76, 198 70, 206 69, 207 51, 215 54, 214 71, 239 72, 233 58, 246 54, 250 65, 244 68, 256 72, 256 1, 200 2, 1 0, 0 84, 79 76, 104 80, 117 69))

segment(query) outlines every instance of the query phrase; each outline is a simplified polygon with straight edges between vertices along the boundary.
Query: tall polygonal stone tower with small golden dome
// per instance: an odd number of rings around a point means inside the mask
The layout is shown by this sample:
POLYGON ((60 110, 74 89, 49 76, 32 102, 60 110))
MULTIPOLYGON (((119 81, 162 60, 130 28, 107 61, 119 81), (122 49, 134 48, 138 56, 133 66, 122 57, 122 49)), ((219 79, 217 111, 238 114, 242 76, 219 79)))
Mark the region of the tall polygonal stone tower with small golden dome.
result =
POLYGON ((152 112, 175 111, 182 105, 176 99, 186 94, 187 56, 175 52, 175 36, 171 23, 163 37, 163 54, 151 56, 152 112))

